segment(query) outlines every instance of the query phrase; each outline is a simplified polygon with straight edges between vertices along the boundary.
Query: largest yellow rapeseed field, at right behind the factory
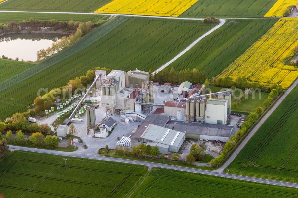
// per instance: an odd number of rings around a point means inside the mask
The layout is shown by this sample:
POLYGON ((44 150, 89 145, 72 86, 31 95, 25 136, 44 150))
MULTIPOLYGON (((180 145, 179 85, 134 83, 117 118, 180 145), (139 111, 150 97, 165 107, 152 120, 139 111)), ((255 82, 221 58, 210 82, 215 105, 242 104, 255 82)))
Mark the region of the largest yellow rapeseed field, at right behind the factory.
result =
POLYGON ((298 45, 298 18, 282 18, 248 48, 220 77, 246 76, 263 85, 289 87, 298 77, 298 67, 288 64, 298 45))

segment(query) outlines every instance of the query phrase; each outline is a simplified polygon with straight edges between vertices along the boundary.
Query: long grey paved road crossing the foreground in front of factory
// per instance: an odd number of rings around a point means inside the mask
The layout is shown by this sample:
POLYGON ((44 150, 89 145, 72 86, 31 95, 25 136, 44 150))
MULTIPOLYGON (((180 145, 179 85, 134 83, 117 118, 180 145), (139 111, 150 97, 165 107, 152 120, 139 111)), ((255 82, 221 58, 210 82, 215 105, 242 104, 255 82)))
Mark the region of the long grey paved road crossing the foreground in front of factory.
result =
POLYGON ((19 147, 19 146, 13 146, 13 145, 9 145, 9 147, 10 147, 10 149, 24 150, 24 151, 37 152, 37 153, 47 153, 47 154, 62 155, 62 156, 68 156, 68 157, 79 157, 79 158, 88 158, 88 159, 96 159, 96 160, 103 160, 103 161, 114 161, 114 162, 122 162, 122 163, 129 163, 129 164, 139 164, 139 165, 148 166, 148 167, 159 167, 159 168, 164 168, 164 169, 193 172, 193 173, 199 173, 199 174, 211 175, 211 176, 217 176, 217 177, 226 177, 226 178, 235 179, 235 180, 244 180, 244 181, 251 181, 251 182, 257 182, 257 183, 263 183, 263 184, 271 184, 271 185, 277 185, 277 186, 298 188, 297 183, 289 183, 289 182, 261 179, 261 178, 255 178, 255 177, 247 177, 247 176, 242 176, 242 175, 233 175, 233 174, 213 172, 213 171, 194 169, 194 168, 188 168, 188 167, 182 167, 182 166, 159 164, 159 163, 147 162, 147 161, 112 158, 112 157, 105 157, 105 156, 100 156, 100 155, 90 155, 90 154, 83 154, 83 153, 76 153, 76 152, 63 152, 63 151, 55 151, 55 150, 19 147))

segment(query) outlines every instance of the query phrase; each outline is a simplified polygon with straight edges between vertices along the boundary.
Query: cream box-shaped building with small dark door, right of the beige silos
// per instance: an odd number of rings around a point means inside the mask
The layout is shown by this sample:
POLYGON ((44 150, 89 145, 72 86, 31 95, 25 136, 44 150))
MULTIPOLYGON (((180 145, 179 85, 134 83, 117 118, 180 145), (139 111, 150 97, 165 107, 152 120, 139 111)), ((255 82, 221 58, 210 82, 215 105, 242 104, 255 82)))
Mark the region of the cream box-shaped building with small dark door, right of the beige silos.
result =
POLYGON ((225 124, 228 119, 228 100, 208 99, 205 120, 208 124, 225 124))

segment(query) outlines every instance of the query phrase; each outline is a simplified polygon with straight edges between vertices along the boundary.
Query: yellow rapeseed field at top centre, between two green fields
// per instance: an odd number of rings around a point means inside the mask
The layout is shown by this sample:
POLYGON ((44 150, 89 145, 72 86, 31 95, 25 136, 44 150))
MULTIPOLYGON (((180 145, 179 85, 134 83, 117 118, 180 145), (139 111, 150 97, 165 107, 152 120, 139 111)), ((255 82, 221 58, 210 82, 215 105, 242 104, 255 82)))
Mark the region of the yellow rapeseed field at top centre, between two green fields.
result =
POLYGON ((197 1, 198 0, 114 0, 96 10, 95 13, 178 17, 197 1))

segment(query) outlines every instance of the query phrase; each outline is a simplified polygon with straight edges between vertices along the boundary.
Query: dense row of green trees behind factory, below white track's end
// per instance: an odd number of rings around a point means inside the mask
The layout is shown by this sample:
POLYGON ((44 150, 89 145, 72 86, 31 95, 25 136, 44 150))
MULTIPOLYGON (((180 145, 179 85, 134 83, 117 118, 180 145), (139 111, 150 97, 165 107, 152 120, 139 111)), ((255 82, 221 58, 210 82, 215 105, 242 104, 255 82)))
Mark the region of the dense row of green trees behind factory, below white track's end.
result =
POLYGON ((185 81, 190 81, 193 84, 203 84, 207 79, 206 72, 199 72, 197 69, 184 69, 180 71, 176 71, 174 67, 171 70, 164 68, 159 73, 154 73, 152 75, 152 71, 149 70, 150 81, 159 82, 160 84, 164 83, 173 83, 173 84, 181 84, 185 81))

